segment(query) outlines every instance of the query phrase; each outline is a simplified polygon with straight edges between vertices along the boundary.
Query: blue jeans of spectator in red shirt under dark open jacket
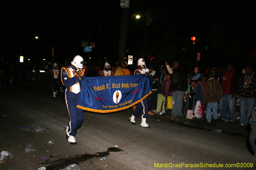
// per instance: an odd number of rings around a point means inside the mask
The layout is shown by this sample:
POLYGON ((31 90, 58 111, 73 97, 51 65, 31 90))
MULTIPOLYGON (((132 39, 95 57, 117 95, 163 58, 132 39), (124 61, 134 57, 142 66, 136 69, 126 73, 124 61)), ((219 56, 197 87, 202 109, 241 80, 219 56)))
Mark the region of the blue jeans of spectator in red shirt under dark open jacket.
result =
POLYGON ((224 96, 220 99, 220 115, 221 119, 226 121, 229 113, 230 122, 235 122, 235 106, 236 106, 236 95, 233 99, 231 99, 231 94, 224 94, 224 96))

